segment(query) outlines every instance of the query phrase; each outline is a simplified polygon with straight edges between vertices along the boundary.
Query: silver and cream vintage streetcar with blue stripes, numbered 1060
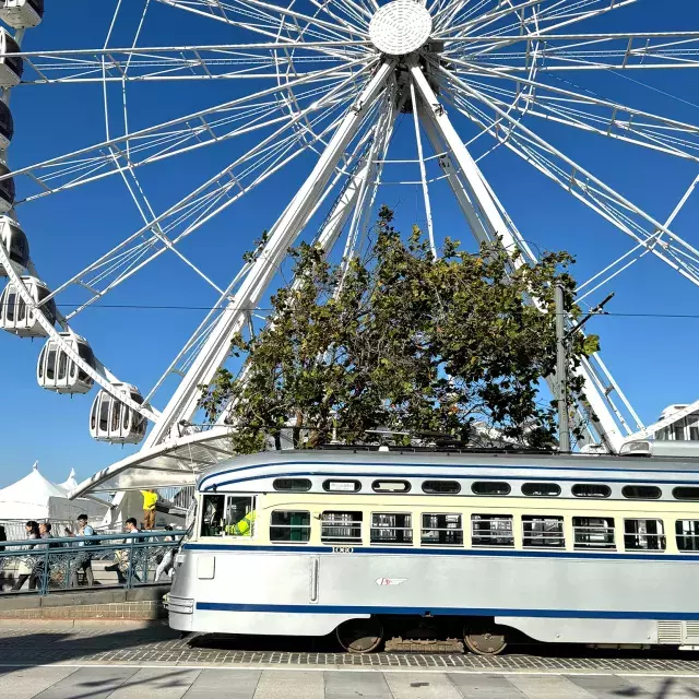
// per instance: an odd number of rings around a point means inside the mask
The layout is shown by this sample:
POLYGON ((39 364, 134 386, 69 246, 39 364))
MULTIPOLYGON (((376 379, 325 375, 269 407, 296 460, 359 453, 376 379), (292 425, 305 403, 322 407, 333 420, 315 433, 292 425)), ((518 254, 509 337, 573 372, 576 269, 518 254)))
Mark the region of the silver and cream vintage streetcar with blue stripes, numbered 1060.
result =
MULTIPOLYGON (((667 445, 667 442, 665 442, 667 445)), ((275 451, 200 476, 180 631, 699 649, 699 459, 275 451)), ((464 650, 465 650, 464 649, 464 650)))

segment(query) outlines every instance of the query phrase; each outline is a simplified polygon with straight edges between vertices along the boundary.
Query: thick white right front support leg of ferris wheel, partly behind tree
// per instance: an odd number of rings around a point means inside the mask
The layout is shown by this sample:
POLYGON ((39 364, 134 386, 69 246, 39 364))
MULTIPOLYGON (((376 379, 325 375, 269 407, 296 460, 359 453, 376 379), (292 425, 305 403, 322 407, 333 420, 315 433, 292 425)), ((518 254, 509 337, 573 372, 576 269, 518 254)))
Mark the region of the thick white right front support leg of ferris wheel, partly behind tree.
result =
MULTIPOLYGON (((517 236, 512 235, 510 227, 490 196, 489 188, 486 187, 483 175, 475 161, 466 150, 455 129, 453 128, 445 107, 427 82, 423 71, 416 62, 411 66, 411 73, 415 81, 415 87, 423 100, 422 115, 425 117, 426 131, 433 144, 435 141, 443 142, 447 151, 455 161, 459 176, 448 177, 452 186, 457 200, 469 222, 472 233, 478 242, 485 240, 501 240, 507 250, 521 250, 521 245, 517 236), (431 134, 431 135, 430 135, 431 134), (462 182, 467 187, 469 193, 463 191, 462 182), (459 191, 461 189, 461 191, 459 191)), ((523 258, 520 264, 529 259, 528 250, 522 250, 523 258)), ((605 396, 600 392, 594 377, 585 370, 584 366, 579 369, 584 379, 584 396, 581 408, 583 414, 591 414, 591 422, 595 431, 604 442, 607 450, 617 452, 624 441, 619 431, 615 415, 609 407, 605 396)), ((548 377, 547 383, 552 390, 555 388, 555 377, 548 377)))

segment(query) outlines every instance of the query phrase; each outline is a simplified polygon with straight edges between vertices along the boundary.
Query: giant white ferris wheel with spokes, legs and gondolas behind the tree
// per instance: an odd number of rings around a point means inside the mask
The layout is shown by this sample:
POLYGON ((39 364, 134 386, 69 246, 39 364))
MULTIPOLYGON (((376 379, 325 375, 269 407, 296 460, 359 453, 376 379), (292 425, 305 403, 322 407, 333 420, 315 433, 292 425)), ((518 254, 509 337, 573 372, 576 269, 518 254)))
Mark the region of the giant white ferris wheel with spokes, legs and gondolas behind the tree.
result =
MULTIPOLYGON (((640 109, 608 96, 611 74, 628 75, 640 86, 654 81, 656 92, 662 91, 655 76, 672 75, 673 91, 685 102, 697 84, 699 31, 625 32, 624 14, 639 3, 114 0, 100 46, 81 44, 94 36, 85 26, 69 46, 46 49, 42 29, 64 12, 63 3, 0 0, 0 155, 7 163, 0 165, 0 275, 7 277, 0 328, 43 339, 36 353, 42 388, 94 392, 84 416, 94 439, 142 445, 85 487, 135 487, 139 470, 154 485, 189 483, 192 470, 227 455, 225 411, 218 425, 197 426, 200 387, 227 362, 233 334, 264 322, 260 304, 279 281, 289 246, 303 238, 335 259, 358 253, 384 187, 406 185, 418 192, 420 222, 435 249, 442 235, 438 210, 448 193, 461 216, 462 239, 469 233, 476 241, 499 237, 522 252, 523 262, 533 261, 538 250, 529 245, 531 236, 520 233, 497 183, 484 175, 488 158, 505 163, 507 156, 532 178, 559 188, 570 216, 592 212, 619 241, 623 252, 601 257, 594 274, 580 280, 579 299, 594 305, 611 280, 642 258, 685 277, 689 289, 699 285, 699 250, 674 227, 698 179, 675 192, 674 211, 645 211, 643 201, 632 201, 600 175, 593 158, 571 154, 553 138, 552 129, 559 129, 609 147, 621 143, 635 150, 635 158, 662 155, 671 165, 696 166, 696 119, 667 115, 661 102, 657 109, 648 103, 640 109), (119 33, 125 15, 129 40, 119 33), (198 43, 196 27, 205 23, 215 27, 208 36, 225 40, 198 43), (158 44, 144 39, 153 26, 163 27, 158 44), (166 29, 177 45, 168 45, 166 29), (205 84, 226 99, 197 104, 205 84), (62 88, 72 91, 73 100, 80 90, 90 91, 91 99, 99 91, 104 138, 57 139, 61 147, 50 157, 15 162, 8 149, 13 108, 22 105, 25 85, 46 91, 47 114, 60 104, 62 88), (134 95, 149 85, 187 98, 178 110, 159 114, 157 99, 151 99, 147 110, 134 114, 134 95), (180 177, 169 203, 155 204, 144 183, 150 168, 176 179, 182 171, 178 162, 193 154, 206 159, 209 170, 187 161, 187 186, 180 177), (289 177, 294 191, 287 196, 289 177), (49 285, 40 274, 47 261, 31 252, 34 232, 23 228, 24 212, 33 205, 50 211, 50 202, 62 197, 94 197, 93 188, 105 182, 128 194, 140 224, 118 240, 99 241, 100 248, 90 246, 97 249, 93 257, 76 256, 73 269, 49 285), (260 225, 246 227, 247 248, 262 228, 269 235, 222 283, 186 244, 205 236, 221 216, 244 212, 252 197, 260 225), (260 201, 266 202, 262 209, 260 201), (100 362, 106 341, 79 334, 81 316, 147 275, 162 256, 176 258, 214 300, 183 345, 163 357, 162 376, 137 388, 128 362, 109 368, 100 362)), ((673 3, 643 4, 660 17, 673 3)), ((81 16, 85 25, 90 21, 90 13, 81 16)), ((15 141, 23 138, 17 125, 15 141)), ((641 176, 630 170, 625 177, 641 176)), ((576 245, 564 238, 560 247, 574 253, 576 245)), ((643 427, 600 356, 580 370, 589 402, 576 412, 591 443, 617 451, 629 436, 663 427, 643 427)), ((696 408, 689 405, 685 413, 696 408)))

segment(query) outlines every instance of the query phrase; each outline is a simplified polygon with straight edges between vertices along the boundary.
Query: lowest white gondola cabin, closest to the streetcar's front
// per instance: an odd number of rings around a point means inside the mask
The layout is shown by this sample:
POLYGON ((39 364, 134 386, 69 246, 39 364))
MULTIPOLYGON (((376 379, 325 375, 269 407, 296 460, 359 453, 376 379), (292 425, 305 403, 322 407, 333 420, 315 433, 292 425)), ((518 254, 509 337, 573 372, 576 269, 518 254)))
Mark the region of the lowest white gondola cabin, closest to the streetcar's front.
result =
MULTIPOLYGON (((139 405, 143 403, 143 396, 134 386, 114 386, 127 392, 139 405)), ((107 391, 97 393, 90 412, 90 435, 93 439, 117 445, 138 445, 145 437, 146 427, 147 420, 141 414, 134 413, 107 391)))

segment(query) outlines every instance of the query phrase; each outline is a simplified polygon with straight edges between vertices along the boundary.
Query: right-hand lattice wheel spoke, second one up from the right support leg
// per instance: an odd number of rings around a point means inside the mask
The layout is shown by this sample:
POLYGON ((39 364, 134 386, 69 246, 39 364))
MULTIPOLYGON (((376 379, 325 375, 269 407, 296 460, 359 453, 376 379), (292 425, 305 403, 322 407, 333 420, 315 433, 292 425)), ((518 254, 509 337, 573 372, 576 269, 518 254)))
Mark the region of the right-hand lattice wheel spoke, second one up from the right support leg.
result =
POLYGON ((573 92, 537 80, 505 75, 452 59, 453 73, 482 91, 500 108, 555 121, 582 131, 641 145, 671 155, 699 159, 699 127, 602 99, 589 91, 573 92), (478 80, 482 78, 483 80, 478 80), (495 79, 493 82, 484 80, 495 79), (505 87, 502 84, 505 83, 505 87), (530 87, 523 91, 522 87, 530 87))

